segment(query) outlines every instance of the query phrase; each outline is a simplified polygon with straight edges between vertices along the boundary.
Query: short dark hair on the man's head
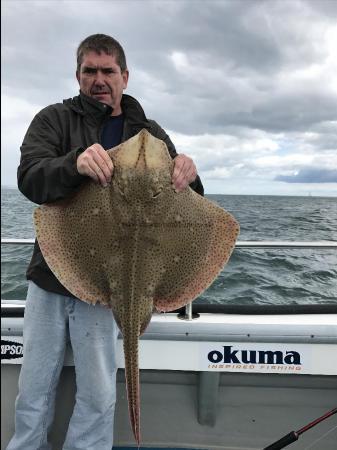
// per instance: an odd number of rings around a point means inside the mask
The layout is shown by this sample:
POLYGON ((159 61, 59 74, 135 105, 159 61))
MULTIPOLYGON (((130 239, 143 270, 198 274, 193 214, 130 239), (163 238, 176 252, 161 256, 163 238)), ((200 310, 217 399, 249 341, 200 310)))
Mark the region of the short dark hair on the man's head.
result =
POLYGON ((98 54, 104 52, 107 55, 115 56, 121 71, 124 72, 127 70, 125 53, 120 43, 107 34, 92 34, 85 38, 78 46, 76 54, 78 71, 80 70, 84 54, 90 51, 94 51, 98 54))

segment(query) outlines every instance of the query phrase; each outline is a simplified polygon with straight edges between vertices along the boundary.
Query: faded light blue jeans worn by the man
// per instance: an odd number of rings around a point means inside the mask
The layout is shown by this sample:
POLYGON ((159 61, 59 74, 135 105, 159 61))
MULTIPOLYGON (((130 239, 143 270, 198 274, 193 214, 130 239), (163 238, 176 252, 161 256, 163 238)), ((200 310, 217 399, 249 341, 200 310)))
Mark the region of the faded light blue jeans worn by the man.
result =
POLYGON ((63 450, 111 450, 117 336, 107 307, 47 292, 29 282, 15 434, 7 450, 51 449, 47 434, 68 340, 77 392, 63 450))

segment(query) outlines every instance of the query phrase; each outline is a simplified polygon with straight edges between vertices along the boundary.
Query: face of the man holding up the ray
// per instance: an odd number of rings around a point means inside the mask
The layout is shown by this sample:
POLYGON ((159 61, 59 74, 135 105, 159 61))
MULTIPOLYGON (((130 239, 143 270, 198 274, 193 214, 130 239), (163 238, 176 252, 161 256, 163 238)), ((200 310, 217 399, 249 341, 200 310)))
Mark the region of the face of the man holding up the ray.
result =
POLYGON ((129 72, 121 72, 114 55, 94 51, 85 53, 76 78, 84 94, 112 106, 112 115, 121 114, 120 103, 129 72))

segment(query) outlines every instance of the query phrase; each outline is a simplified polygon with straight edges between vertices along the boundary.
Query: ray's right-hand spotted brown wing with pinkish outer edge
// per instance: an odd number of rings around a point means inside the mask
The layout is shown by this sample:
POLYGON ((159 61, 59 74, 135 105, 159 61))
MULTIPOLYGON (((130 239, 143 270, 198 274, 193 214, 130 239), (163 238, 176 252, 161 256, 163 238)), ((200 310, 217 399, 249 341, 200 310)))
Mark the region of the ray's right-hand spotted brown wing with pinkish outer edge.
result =
POLYGON ((156 233, 163 276, 154 304, 158 311, 172 311, 194 300, 213 282, 234 249, 239 224, 190 188, 179 194, 167 189, 162 207, 165 213, 156 233))

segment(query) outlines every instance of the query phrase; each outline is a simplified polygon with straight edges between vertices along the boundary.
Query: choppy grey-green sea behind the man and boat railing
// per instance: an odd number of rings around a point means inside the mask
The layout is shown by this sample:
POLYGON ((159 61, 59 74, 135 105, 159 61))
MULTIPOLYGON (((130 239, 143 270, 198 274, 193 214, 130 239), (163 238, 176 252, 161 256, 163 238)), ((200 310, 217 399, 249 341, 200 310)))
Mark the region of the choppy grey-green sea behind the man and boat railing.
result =
MULTIPOLYGON (((240 241, 337 241, 336 197, 206 195, 240 223, 240 241)), ((1 238, 32 239, 37 207, 1 188, 1 238)), ((1 245, 1 299, 24 300, 32 246, 1 245)), ((240 249, 198 303, 337 304, 337 248, 240 249)))

